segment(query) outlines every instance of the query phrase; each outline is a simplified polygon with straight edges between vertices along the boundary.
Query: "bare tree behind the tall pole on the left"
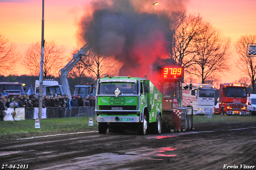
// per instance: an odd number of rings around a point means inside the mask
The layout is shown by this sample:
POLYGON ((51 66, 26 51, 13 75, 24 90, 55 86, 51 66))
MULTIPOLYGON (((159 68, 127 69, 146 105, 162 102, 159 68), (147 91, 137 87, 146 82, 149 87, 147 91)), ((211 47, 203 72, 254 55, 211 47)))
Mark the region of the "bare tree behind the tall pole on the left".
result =
MULTIPOLYGON (((64 64, 62 64, 65 56, 66 47, 58 46, 52 40, 44 44, 44 78, 52 78, 56 76, 64 64)), ((22 65, 28 69, 32 74, 40 74, 40 60, 41 60, 41 42, 30 44, 25 51, 25 56, 22 58, 22 65)))

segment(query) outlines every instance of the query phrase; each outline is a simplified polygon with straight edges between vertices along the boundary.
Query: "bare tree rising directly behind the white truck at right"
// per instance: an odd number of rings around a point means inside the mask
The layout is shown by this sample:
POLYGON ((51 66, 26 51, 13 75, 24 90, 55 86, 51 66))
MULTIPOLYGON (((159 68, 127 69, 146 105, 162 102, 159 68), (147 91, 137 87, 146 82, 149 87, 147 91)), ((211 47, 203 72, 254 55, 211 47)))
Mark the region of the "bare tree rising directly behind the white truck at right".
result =
POLYGON ((197 35, 196 41, 192 43, 194 53, 188 71, 204 83, 210 76, 217 78, 220 73, 230 69, 228 57, 231 38, 225 37, 208 22, 204 22, 200 27, 204 32, 197 35))

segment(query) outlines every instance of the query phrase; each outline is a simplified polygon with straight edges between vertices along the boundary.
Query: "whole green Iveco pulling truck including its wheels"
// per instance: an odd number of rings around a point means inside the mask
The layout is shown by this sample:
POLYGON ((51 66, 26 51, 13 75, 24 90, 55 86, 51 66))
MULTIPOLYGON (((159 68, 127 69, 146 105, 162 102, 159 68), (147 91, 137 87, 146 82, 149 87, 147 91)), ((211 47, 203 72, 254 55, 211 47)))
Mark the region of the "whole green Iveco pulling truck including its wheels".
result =
POLYGON ((100 134, 125 130, 161 133, 162 94, 145 78, 100 78, 96 88, 96 120, 100 134))

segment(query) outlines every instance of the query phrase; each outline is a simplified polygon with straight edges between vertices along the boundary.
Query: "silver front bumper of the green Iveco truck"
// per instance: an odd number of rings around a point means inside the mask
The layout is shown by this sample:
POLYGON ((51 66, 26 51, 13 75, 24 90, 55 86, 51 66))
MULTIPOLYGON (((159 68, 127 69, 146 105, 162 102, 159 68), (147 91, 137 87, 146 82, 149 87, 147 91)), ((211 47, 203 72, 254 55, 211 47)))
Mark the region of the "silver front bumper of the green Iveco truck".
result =
POLYGON ((139 116, 97 116, 97 122, 140 122, 139 116))

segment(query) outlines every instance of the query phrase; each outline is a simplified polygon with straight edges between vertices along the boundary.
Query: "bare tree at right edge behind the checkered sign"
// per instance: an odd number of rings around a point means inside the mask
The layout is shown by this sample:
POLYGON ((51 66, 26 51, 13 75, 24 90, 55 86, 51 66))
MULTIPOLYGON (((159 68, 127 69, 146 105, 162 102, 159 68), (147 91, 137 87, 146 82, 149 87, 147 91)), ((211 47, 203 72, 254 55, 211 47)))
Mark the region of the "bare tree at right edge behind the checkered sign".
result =
POLYGON ((256 43, 256 34, 244 35, 238 38, 234 44, 236 52, 239 54, 236 63, 238 64, 238 68, 250 77, 252 82, 252 93, 255 94, 256 57, 246 56, 248 43, 256 43))

